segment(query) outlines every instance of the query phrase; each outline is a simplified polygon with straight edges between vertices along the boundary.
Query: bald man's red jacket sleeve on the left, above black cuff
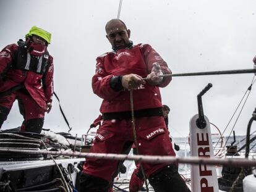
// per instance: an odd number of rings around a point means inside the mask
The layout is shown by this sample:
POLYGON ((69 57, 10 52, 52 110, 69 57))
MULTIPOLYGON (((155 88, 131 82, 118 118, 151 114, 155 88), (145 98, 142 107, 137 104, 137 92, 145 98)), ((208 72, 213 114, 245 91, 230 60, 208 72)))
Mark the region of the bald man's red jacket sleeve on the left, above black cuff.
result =
POLYGON ((96 59, 96 73, 92 78, 92 88, 93 93, 98 95, 100 98, 111 100, 116 98, 116 96, 120 93, 120 91, 115 91, 110 86, 110 80, 114 77, 114 75, 108 74, 105 71, 104 57, 98 57, 96 59))

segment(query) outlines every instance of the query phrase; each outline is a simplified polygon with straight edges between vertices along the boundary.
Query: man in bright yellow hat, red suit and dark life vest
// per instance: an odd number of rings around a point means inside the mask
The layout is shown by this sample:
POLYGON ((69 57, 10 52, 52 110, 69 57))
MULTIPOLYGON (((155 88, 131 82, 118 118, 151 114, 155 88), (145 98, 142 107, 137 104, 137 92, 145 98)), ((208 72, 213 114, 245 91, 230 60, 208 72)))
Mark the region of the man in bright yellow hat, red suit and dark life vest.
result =
POLYGON ((51 33, 34 26, 25 41, 9 44, 0 52, 0 128, 17 99, 24 118, 21 130, 41 132, 53 97, 50 41, 51 33))

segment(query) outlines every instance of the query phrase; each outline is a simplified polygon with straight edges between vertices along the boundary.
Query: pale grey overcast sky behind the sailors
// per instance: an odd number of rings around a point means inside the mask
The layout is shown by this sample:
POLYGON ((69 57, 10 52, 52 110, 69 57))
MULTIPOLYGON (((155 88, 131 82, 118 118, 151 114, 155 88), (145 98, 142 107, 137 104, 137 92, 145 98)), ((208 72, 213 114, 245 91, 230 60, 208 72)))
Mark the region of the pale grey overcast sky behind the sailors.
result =
MULTIPOLYGON (((96 57, 111 51, 105 24, 117 17, 118 7, 119 0, 0 0, 1 49, 23 38, 33 25, 52 33, 48 49, 54 57, 54 91, 72 135, 86 133, 100 114, 101 99, 93 94, 91 80, 96 57)), ((120 19, 131 30, 130 40, 151 44, 173 73, 253 68, 255 0, 123 0, 120 19)), ((163 104, 171 108, 171 135, 189 135, 189 120, 197 114, 197 94, 208 83, 213 87, 203 96, 204 113, 223 131, 253 77, 252 73, 174 77, 161 89, 163 104)), ((237 121, 237 135, 246 134, 255 97, 254 85, 237 121)), ((2 129, 21 123, 15 102, 2 129)), ((68 130, 56 98, 44 128, 68 130)))

